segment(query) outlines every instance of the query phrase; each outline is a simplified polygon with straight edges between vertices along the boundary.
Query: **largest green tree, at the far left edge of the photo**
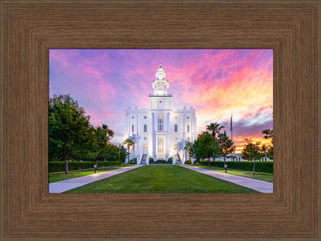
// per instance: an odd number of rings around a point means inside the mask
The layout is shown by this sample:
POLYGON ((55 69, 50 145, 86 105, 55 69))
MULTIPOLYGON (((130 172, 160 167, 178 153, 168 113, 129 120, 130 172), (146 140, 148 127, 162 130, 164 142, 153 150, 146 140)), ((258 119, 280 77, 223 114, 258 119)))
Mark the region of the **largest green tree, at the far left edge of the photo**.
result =
POLYGON ((49 98, 49 159, 65 160, 68 174, 68 159, 88 143, 89 115, 77 101, 67 95, 49 98))

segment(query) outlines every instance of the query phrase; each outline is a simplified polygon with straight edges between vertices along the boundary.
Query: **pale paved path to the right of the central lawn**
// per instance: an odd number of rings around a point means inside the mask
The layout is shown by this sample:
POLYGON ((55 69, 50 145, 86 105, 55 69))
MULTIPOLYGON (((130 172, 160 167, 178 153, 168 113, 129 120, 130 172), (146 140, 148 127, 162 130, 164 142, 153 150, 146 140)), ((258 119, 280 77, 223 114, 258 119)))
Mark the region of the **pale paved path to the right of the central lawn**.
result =
POLYGON ((253 178, 230 175, 227 173, 216 172, 215 170, 207 170, 204 168, 197 168, 193 166, 186 166, 186 165, 180 165, 180 166, 183 166, 184 168, 188 168, 190 170, 195 170, 196 172, 199 172, 199 173, 204 173, 206 175, 219 178, 221 180, 225 180, 227 182, 233 182, 240 186, 247 187, 255 191, 260 191, 261 193, 273 193, 273 182, 265 182, 265 181, 256 180, 253 178))

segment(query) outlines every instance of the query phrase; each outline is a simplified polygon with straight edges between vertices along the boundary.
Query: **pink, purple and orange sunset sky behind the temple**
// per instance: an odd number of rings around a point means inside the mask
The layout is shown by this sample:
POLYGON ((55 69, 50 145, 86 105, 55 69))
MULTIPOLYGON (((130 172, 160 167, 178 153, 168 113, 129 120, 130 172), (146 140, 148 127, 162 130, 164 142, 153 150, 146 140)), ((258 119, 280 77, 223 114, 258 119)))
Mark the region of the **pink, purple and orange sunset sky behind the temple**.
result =
POLYGON ((125 110, 148 108, 160 60, 174 108, 196 109, 197 131, 218 122, 237 153, 273 129, 273 50, 50 50, 50 97, 70 94, 112 142, 125 139, 125 110))

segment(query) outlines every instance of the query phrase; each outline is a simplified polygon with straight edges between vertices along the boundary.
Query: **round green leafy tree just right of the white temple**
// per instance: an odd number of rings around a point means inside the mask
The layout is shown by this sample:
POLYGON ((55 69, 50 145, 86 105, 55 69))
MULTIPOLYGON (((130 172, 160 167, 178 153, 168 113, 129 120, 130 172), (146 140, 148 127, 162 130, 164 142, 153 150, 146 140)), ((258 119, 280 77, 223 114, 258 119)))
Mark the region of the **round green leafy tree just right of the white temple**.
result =
MULTIPOLYGON (((202 159, 210 159, 218 153, 216 140, 209 133, 202 133, 197 138, 196 155, 202 159)), ((209 160, 209 166, 210 160, 209 160)))

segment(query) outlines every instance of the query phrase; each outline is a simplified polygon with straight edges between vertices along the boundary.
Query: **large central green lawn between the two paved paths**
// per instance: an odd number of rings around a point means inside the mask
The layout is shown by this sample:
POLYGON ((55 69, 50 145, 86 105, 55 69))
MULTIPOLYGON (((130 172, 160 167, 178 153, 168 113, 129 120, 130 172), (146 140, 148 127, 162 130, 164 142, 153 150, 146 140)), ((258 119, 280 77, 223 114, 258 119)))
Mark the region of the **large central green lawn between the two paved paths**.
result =
POLYGON ((142 166, 65 193, 257 193, 181 166, 142 166))

